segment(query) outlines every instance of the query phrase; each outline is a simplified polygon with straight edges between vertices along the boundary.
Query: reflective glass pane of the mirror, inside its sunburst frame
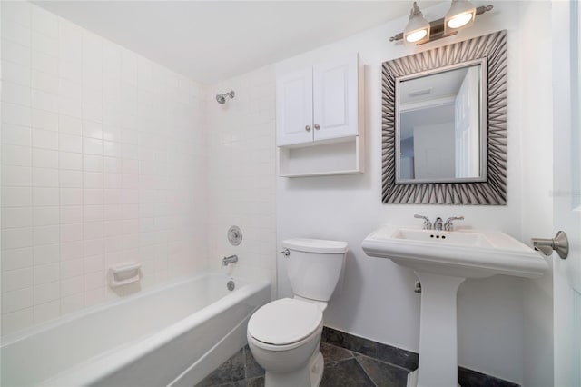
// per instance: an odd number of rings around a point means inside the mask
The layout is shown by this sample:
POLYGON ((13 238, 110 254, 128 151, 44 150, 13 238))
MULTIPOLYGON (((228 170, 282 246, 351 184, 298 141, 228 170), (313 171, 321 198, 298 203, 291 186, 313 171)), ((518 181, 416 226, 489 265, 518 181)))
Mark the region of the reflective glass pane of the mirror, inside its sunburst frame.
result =
POLYGON ((486 58, 396 79, 396 183, 486 181, 486 58))

